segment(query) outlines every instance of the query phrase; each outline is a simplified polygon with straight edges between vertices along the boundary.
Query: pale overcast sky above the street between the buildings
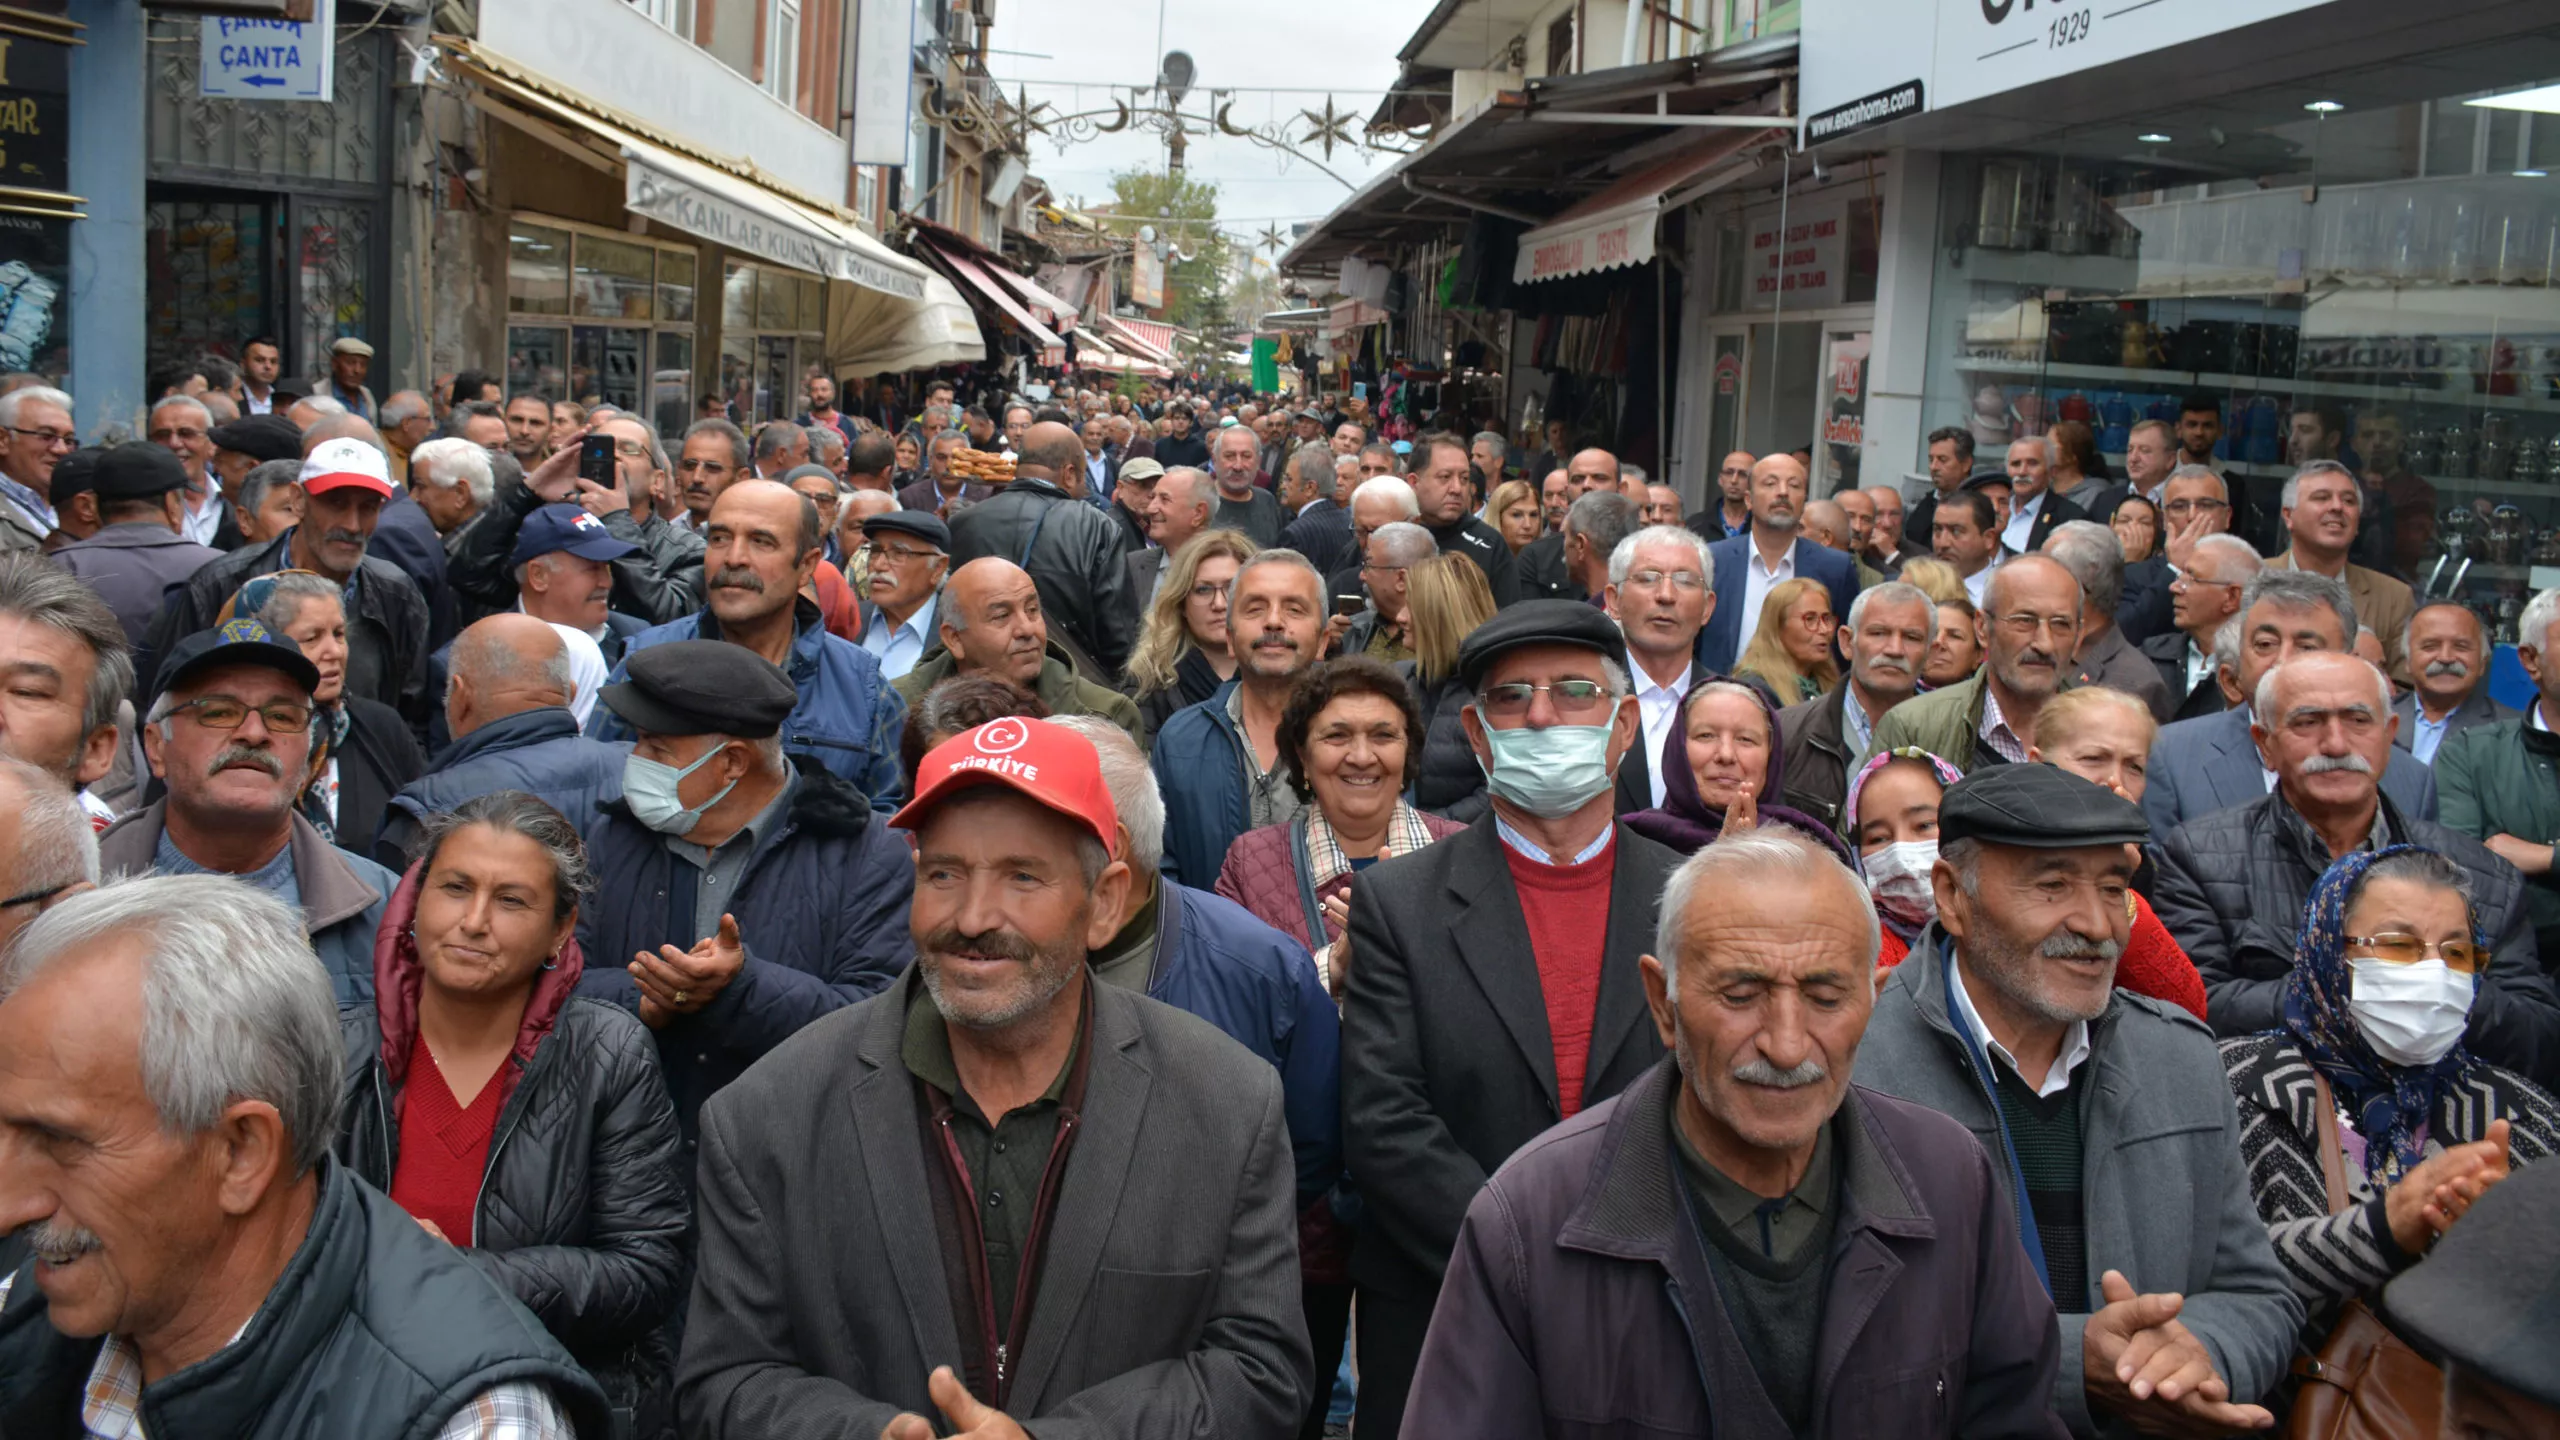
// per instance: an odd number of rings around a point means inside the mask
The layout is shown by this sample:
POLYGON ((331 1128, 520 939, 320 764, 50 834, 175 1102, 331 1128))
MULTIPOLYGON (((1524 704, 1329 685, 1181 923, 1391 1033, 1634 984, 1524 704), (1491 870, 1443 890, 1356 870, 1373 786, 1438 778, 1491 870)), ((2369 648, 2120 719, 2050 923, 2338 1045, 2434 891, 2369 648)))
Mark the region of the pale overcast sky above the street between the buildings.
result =
MULTIPOLYGON (((1004 79, 1047 82, 1032 85, 1032 100, 1078 113, 1108 110, 1114 85, 1147 85, 1157 56, 1180 49, 1198 67, 1185 113, 1206 115, 1203 92, 1221 85, 1339 85, 1331 92, 1334 108, 1354 115, 1349 133, 1359 136, 1362 120, 1395 79, 1395 51, 1428 13, 1431 0, 1288 0, 1254 8, 1231 0, 1009 0, 996 8, 988 44, 993 51, 1032 54, 988 54, 986 64, 1004 79), (1162 49, 1155 38, 1157 15, 1165 23, 1162 49), (1080 87, 1070 87, 1075 82, 1080 87)), ((1004 90, 1014 95, 1016 87, 1004 90)), ((1231 118, 1236 126, 1285 118, 1295 141, 1311 128, 1298 110, 1321 113, 1324 102, 1326 95, 1244 90, 1231 118)), ((1313 154, 1324 159, 1321 146, 1313 154)), ((1334 146, 1326 164, 1352 184, 1364 184, 1393 159, 1334 146)), ((1142 164, 1162 169, 1162 136, 1132 128, 1068 143, 1065 151, 1052 138, 1032 138, 1032 174, 1047 179, 1052 195, 1070 200, 1108 200, 1111 174, 1142 164)), ((1185 169, 1193 179, 1219 182, 1224 228, 1247 241, 1275 220, 1288 233, 1288 220, 1316 220, 1349 195, 1311 164, 1229 136, 1193 136, 1185 169)))

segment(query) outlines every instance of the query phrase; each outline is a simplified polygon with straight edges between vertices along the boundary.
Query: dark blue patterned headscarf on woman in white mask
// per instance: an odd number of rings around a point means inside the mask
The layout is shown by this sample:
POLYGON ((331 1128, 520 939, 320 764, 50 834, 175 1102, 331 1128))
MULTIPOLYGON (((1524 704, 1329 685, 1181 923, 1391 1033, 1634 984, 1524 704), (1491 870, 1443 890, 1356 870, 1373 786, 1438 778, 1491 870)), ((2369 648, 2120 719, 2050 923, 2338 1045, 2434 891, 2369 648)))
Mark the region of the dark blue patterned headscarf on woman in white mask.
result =
MULTIPOLYGON (((2348 969, 2348 897, 2376 861, 2388 856, 2435 853, 2419 846, 2358 851, 2342 856, 2319 876, 2301 912, 2294 940, 2294 969, 2284 976, 2284 1033, 2330 1081, 2355 1133, 2365 1138, 2365 1176, 2391 1184, 2419 1161, 2419 1133, 2435 1115, 2437 1097, 2463 1084, 2470 1048, 2455 1045, 2432 1066, 2396 1066, 2365 1043, 2348 999, 2355 976, 2348 969)), ((2470 917, 2470 943, 2488 948, 2481 917, 2470 917)))

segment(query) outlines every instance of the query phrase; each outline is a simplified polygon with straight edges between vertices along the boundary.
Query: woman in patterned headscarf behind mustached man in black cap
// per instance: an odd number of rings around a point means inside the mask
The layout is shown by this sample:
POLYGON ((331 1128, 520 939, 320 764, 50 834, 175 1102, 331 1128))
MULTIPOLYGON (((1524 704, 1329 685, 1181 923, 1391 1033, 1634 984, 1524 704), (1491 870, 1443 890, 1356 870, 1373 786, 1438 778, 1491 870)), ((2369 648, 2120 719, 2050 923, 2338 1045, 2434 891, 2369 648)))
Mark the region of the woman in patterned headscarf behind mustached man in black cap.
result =
POLYGON ((346 692, 346 592, 323 574, 279 569, 243 584, 215 623, 243 615, 292 641, 320 669, 302 817, 333 843, 371 853, 381 812, 399 787, 428 774, 428 756, 397 710, 346 692))

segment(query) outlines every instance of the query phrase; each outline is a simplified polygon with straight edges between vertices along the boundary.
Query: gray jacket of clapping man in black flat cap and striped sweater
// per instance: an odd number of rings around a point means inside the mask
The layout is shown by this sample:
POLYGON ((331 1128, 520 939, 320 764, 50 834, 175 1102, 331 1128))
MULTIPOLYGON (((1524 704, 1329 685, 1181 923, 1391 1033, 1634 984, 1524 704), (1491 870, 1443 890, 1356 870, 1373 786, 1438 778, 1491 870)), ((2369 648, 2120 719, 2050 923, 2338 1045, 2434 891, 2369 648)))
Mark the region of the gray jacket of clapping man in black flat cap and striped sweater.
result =
MULTIPOLYGON (((1948 1017, 1946 945, 1946 930, 1930 925, 1884 981, 1859 1045, 1859 1084, 1956 1117, 2010 1179, 1999 1109, 1948 1017)), ((2053 1297, 2063 1330, 2053 1409, 2074 1435, 2122 1427, 2099 1430, 2081 1373, 2081 1332, 2099 1309, 2107 1271, 2125 1271, 2143 1294, 2186 1297, 2179 1322, 2212 1353, 2237 1404, 2276 1389, 2294 1358, 2301 1302, 2250 1197, 2240 1112, 2214 1074, 2220 1058, 2194 1015, 2150 997, 2120 989, 2089 1022, 2089 1058, 2071 1076, 2074 1089, 2089 1086, 2081 1099, 2089 1294, 2053 1297)), ((2015 1212, 2017 1197, 2010 1202, 2015 1212)))

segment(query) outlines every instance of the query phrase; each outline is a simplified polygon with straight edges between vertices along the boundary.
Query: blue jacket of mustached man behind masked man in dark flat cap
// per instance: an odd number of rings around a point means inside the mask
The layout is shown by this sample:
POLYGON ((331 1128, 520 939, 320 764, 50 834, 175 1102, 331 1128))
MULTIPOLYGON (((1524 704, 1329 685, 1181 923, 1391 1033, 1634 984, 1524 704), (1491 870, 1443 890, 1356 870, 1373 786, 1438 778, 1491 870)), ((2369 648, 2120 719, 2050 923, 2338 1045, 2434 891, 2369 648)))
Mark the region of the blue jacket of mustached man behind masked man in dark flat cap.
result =
MULTIPOLYGON (((896 815, 906 789, 899 769, 899 735, 906 730, 906 702, 881 679, 881 661, 863 646, 829 635, 817 605, 796 602, 799 633, 791 641, 791 684, 799 705, 783 720, 783 751, 817 761, 850 781, 881 815, 896 815)), ((607 684, 622 684, 630 651, 668 641, 717 641, 719 618, 709 610, 671 620, 632 635, 607 684)), ((630 740, 632 728, 609 707, 596 705, 586 733, 599 740, 630 740)), ((806 769, 806 766, 801 766, 806 769)), ((1211 871, 1216 874, 1216 871, 1211 871)), ((607 892, 609 894, 609 892, 607 892)))

